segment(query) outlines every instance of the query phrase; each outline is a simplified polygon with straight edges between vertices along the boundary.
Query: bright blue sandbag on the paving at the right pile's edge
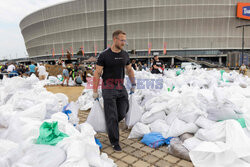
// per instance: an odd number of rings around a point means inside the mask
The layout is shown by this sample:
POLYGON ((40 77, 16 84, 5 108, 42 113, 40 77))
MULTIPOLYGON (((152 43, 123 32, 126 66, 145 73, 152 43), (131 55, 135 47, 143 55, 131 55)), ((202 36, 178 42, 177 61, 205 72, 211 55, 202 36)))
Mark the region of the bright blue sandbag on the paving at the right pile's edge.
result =
POLYGON ((159 132, 148 133, 143 136, 141 142, 151 148, 157 148, 164 144, 169 144, 173 137, 164 138, 159 132))

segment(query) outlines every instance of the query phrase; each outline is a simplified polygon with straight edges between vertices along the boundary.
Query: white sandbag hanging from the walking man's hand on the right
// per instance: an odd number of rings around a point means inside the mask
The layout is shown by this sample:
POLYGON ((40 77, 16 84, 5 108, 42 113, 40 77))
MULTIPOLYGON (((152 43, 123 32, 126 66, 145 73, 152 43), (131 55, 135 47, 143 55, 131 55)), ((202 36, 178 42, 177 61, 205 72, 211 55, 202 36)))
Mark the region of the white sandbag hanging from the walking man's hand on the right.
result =
POLYGON ((125 117, 126 125, 128 127, 134 126, 137 122, 140 121, 142 117, 141 108, 135 100, 134 95, 132 94, 129 98, 129 110, 125 117))

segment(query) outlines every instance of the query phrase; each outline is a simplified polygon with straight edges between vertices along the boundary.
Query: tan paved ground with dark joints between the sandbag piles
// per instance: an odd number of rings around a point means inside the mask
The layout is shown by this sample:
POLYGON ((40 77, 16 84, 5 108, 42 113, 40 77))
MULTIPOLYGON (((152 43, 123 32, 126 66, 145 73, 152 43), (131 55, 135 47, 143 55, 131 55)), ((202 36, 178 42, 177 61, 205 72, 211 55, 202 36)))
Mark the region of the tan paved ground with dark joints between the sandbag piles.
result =
MULTIPOLYGON (((80 122, 84 122, 89 111, 80 111, 80 122)), ((105 133, 97 134, 96 137, 103 145, 102 151, 113 159, 118 167, 192 167, 192 163, 168 154, 166 146, 152 149, 138 139, 127 139, 130 133, 124 129, 124 123, 120 124, 120 145, 123 149, 121 153, 115 153, 111 147, 108 136, 105 133)))

